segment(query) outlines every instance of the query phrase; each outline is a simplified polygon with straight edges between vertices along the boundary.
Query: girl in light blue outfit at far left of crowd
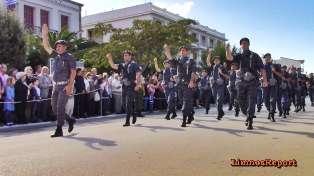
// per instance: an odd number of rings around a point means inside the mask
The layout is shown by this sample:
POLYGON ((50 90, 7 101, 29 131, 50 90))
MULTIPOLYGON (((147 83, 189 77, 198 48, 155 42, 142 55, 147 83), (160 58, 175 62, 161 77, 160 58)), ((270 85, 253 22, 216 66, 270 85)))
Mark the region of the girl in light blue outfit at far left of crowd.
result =
POLYGON ((5 117, 6 124, 9 126, 14 125, 14 123, 11 121, 11 111, 14 111, 14 104, 15 104, 14 84, 15 84, 15 78, 10 76, 7 79, 7 87, 5 89, 6 91, 5 102, 12 102, 12 103, 4 104, 4 117, 5 117))

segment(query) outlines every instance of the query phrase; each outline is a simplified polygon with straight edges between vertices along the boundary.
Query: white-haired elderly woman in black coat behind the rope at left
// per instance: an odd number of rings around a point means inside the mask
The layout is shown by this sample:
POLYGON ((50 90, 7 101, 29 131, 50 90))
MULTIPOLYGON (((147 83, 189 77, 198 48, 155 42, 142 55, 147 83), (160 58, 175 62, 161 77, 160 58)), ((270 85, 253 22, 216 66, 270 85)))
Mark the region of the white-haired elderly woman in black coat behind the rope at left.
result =
POLYGON ((21 71, 17 73, 17 80, 14 85, 15 93, 15 110, 18 117, 18 124, 27 124, 26 121, 26 105, 27 96, 30 94, 30 88, 33 83, 26 84, 26 73, 21 71), (19 102, 20 101, 20 102, 19 102))

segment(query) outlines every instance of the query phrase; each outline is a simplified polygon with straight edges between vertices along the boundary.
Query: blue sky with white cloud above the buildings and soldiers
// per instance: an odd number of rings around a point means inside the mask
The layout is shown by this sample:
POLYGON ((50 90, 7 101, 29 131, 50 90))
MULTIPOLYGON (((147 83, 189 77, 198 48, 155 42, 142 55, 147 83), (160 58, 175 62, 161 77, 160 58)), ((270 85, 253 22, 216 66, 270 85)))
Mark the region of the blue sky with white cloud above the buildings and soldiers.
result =
MULTIPOLYGON (((73 0, 84 4, 82 16, 152 2, 182 17, 226 33, 231 45, 250 39, 250 50, 272 59, 305 60, 314 72, 314 0, 73 0)), ((287 65, 289 66, 289 65, 287 65)))

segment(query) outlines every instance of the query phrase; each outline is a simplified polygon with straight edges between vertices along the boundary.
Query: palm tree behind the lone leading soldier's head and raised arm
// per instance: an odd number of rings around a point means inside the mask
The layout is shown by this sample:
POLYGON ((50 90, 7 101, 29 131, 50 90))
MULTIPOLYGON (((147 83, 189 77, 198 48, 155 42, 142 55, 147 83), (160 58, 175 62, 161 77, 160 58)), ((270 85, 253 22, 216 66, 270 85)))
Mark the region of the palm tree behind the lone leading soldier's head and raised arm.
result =
MULTIPOLYGON (((61 30, 56 33, 48 33, 48 41, 50 46, 53 49, 56 49, 54 43, 60 39, 66 40, 68 42, 67 45, 67 51, 74 55, 74 52, 78 50, 78 44, 87 42, 85 38, 79 38, 77 37, 78 34, 82 32, 82 30, 79 30, 77 32, 70 32, 68 26, 64 26, 61 28, 61 30)), ((48 58, 50 58, 50 55, 47 53, 47 51, 44 48, 42 38, 41 36, 37 35, 36 33, 32 33, 29 36, 30 40, 30 47, 29 50, 29 57, 28 61, 31 62, 30 65, 38 65, 38 64, 48 64, 48 58)), ((75 55, 74 55, 75 56, 75 55)))

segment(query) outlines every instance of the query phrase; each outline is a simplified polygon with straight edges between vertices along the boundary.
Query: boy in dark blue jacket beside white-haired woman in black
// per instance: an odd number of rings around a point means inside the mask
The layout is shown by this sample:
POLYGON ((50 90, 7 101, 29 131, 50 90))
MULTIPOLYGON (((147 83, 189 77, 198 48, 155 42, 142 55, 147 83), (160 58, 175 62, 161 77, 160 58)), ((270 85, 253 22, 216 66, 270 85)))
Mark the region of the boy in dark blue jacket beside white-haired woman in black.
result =
POLYGON ((36 123, 36 122, 42 122, 40 119, 40 103, 42 101, 42 95, 40 88, 38 87, 39 80, 37 78, 32 78, 32 95, 31 95, 31 100, 32 101, 32 111, 31 111, 31 122, 36 123), (36 114, 36 119, 35 119, 35 114, 36 114))

